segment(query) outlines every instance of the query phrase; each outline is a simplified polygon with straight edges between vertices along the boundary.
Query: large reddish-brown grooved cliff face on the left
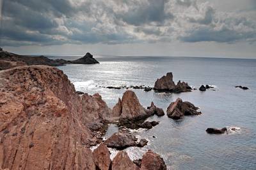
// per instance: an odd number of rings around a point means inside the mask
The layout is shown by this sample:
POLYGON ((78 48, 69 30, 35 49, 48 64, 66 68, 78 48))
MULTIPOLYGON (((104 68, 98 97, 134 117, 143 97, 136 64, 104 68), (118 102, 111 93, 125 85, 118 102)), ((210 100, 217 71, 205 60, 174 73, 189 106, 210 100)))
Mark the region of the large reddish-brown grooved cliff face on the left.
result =
POLYGON ((99 95, 82 97, 61 70, 19 66, 0 72, 0 167, 95 169, 88 128, 109 108, 99 95), (95 109, 96 108, 96 109, 95 109))

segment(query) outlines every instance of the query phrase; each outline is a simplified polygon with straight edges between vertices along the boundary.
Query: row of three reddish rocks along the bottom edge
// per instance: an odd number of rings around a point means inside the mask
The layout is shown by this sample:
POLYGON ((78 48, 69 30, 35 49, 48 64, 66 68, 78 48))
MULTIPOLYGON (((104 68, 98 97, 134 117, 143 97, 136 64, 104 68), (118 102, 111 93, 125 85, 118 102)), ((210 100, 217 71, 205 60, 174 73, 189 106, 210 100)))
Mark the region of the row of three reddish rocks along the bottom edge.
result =
POLYGON ((129 158, 125 151, 119 151, 111 161, 107 146, 105 144, 100 144, 100 146, 93 151, 93 160, 95 166, 92 169, 166 170, 163 158, 151 150, 148 150, 141 159, 134 161, 129 158))

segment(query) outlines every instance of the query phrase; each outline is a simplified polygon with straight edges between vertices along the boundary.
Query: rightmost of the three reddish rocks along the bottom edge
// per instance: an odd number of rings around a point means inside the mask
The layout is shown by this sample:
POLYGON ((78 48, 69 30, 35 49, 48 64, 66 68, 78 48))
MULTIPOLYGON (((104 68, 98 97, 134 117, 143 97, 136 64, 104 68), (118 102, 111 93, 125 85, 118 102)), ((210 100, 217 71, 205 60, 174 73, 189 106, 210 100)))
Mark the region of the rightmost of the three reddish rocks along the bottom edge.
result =
POLYGON ((166 170, 163 158, 157 153, 148 150, 142 157, 141 170, 166 170))

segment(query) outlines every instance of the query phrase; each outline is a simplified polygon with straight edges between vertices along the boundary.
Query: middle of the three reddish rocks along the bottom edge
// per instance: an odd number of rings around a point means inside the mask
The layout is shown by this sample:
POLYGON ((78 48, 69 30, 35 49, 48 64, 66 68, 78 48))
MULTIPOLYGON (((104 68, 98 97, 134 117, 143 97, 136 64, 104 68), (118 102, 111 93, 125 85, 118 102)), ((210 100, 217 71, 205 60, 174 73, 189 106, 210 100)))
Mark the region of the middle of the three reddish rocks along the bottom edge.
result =
POLYGON ((112 170, 139 170, 140 168, 134 164, 125 151, 119 151, 112 162, 112 170))

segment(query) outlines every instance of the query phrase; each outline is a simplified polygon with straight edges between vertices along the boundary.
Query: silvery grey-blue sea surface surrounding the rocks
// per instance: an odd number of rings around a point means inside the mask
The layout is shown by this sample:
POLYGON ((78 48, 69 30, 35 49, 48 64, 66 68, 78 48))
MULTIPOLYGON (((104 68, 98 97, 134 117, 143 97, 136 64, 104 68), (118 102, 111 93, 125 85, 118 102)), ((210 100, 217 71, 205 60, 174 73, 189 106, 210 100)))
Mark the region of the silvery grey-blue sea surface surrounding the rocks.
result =
MULTIPOLYGON (((51 58, 76 59, 81 56, 51 58)), ((132 89, 140 103, 154 102, 166 112, 178 97, 200 107, 202 115, 186 116, 175 121, 166 115, 148 120, 160 121, 150 130, 136 130, 138 137, 149 141, 144 148, 127 148, 129 157, 140 158, 148 149, 159 153, 168 169, 256 169, 256 59, 168 58, 168 57, 104 57, 96 56, 99 65, 59 66, 78 91, 99 93, 109 107, 122 98, 125 89, 99 86, 154 86, 157 78, 173 73, 197 90, 166 94, 132 89), (214 89, 200 92, 201 84, 214 89), (234 88, 247 86, 249 90, 234 88), (208 127, 240 127, 233 134, 210 135, 208 127), (156 136, 153 138, 152 136, 156 136)), ((109 125, 106 137, 118 130, 109 125)), ((111 150, 111 157, 116 151, 111 150)))

